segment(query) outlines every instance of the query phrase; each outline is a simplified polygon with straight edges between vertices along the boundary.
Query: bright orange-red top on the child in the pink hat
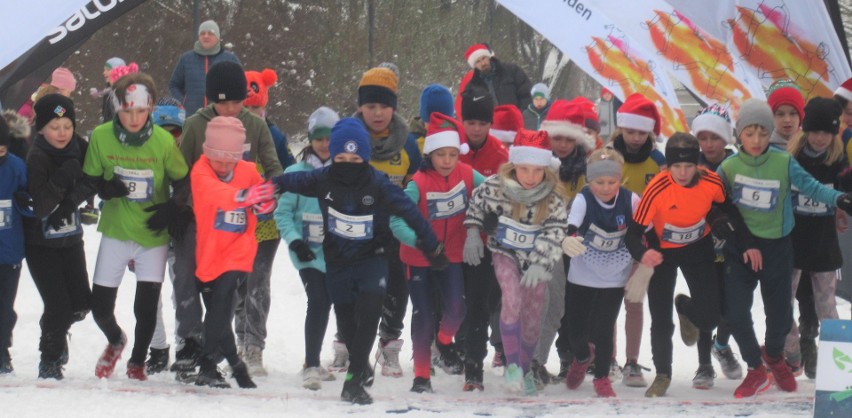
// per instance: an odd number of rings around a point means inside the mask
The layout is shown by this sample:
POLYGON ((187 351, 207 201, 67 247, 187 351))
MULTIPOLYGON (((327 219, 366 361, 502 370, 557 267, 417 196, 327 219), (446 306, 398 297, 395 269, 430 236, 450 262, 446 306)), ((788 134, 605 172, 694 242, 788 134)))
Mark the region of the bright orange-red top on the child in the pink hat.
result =
POLYGON ((195 222, 195 275, 202 282, 211 282, 228 271, 251 272, 257 254, 254 229, 257 216, 252 209, 240 208, 234 196, 263 179, 257 167, 239 161, 234 176, 226 183, 219 179, 206 156, 192 166, 190 172, 195 222))

